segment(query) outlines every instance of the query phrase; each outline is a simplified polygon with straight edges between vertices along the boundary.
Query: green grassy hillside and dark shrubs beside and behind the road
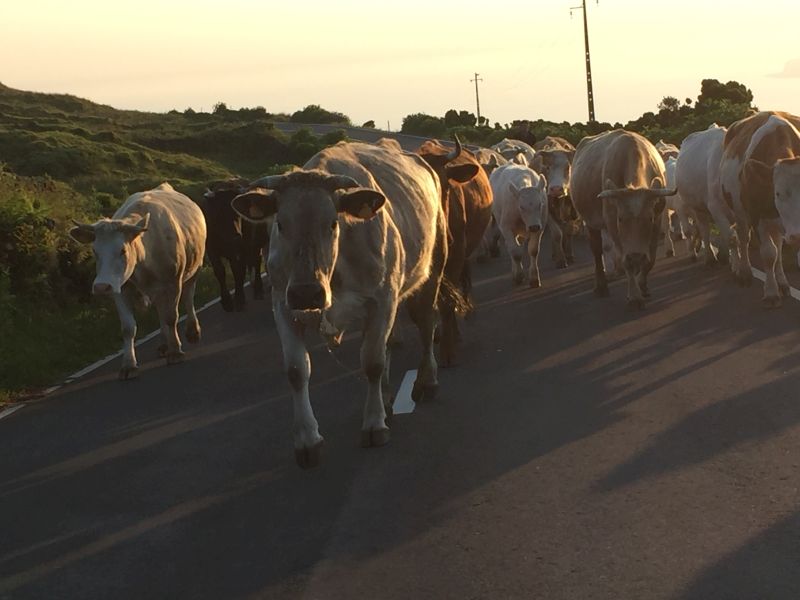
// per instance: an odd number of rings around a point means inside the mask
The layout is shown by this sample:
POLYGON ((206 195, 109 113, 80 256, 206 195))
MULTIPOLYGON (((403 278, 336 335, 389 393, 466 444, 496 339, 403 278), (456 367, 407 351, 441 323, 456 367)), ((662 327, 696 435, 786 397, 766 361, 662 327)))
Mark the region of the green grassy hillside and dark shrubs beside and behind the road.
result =
MULTIPOLYGON (((736 82, 704 80, 696 102, 667 96, 657 112, 626 127, 678 144, 712 122, 729 125, 743 117, 752 99, 736 82)), ((0 84, 0 403, 35 393, 120 346, 113 303, 90 294, 91 251, 69 237, 71 219, 111 216, 129 194, 162 181, 197 201, 211 181, 280 173, 346 139, 344 130, 317 137, 300 129, 287 136, 275 128, 278 122, 352 125, 346 115, 314 104, 293 114, 232 110, 223 102, 208 113, 147 113, 0 84)), ((453 109, 442 117, 408 115, 402 132, 458 134, 486 146, 504 137, 533 142, 546 135, 577 144, 619 126, 541 119, 490 126, 453 109)), ((204 271, 198 304, 216 295, 212 279, 204 271)), ((155 328, 154 311, 137 313, 142 334, 155 328)))

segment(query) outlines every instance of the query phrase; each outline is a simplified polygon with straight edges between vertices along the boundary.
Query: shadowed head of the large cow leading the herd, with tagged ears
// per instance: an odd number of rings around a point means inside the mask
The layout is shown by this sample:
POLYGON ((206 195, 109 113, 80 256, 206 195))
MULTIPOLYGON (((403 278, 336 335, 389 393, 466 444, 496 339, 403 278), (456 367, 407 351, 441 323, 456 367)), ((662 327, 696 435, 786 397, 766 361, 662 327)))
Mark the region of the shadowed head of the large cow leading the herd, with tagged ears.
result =
POLYGON ((270 274, 275 283, 284 280, 289 309, 317 312, 332 302, 340 226, 372 219, 385 202, 381 192, 360 187, 351 177, 299 170, 254 182, 253 189, 236 196, 232 206, 255 223, 275 217, 270 274))

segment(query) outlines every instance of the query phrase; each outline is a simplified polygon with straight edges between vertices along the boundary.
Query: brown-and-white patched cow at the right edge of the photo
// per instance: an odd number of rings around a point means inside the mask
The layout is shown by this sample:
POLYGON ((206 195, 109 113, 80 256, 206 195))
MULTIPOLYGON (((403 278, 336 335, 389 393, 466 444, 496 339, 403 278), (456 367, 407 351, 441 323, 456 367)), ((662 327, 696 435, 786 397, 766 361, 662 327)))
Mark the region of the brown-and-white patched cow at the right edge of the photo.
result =
MULTIPOLYGON (((781 246, 783 225, 776 207, 773 167, 783 159, 800 156, 800 117, 788 113, 760 112, 731 125, 725 135, 720 162, 722 194, 736 214, 736 237, 739 241, 741 285, 752 283, 748 253, 750 231, 756 229, 766 278, 765 307, 781 305, 781 296, 789 295, 789 282, 783 272, 781 246)), ((789 229, 795 227, 787 213, 789 229)))

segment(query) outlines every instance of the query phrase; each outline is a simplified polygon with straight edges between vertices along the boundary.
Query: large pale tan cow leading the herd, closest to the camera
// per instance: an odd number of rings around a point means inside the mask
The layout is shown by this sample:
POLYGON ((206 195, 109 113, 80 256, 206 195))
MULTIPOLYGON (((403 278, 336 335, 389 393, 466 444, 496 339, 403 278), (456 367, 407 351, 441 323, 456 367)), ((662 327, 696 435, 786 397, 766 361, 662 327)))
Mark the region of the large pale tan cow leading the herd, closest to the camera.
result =
POLYGON ((344 330, 363 328, 367 398, 361 442, 387 443, 386 344, 403 301, 423 345, 412 397, 433 395, 438 386, 433 332, 447 240, 436 173, 391 142, 341 142, 300 170, 254 185, 234 198, 233 207, 257 222, 275 216, 268 265, 298 464, 316 466, 323 443, 309 397, 306 330, 319 330, 336 343, 344 330))

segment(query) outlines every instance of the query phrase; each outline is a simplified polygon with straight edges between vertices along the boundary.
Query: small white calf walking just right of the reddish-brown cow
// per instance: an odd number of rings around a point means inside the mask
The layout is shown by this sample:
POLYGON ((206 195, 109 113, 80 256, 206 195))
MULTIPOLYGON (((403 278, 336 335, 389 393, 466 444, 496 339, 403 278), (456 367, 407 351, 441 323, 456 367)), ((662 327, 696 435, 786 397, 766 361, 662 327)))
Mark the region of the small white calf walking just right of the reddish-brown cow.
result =
MULTIPOLYGON (((530 255, 528 282, 539 287, 539 246, 544 228, 551 224, 547 203, 547 180, 533 169, 509 163, 495 169, 489 179, 494 202, 492 213, 511 257, 511 277, 522 283, 523 245, 530 255)), ((561 230, 551 225, 554 245, 561 249, 561 230)), ((557 260, 565 261, 563 252, 557 260)))

